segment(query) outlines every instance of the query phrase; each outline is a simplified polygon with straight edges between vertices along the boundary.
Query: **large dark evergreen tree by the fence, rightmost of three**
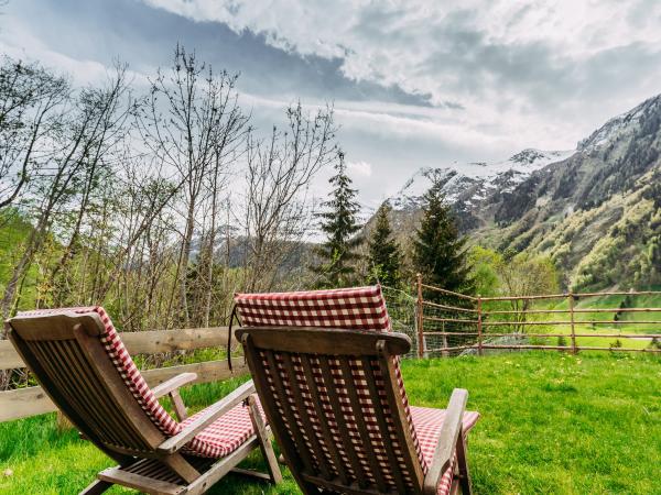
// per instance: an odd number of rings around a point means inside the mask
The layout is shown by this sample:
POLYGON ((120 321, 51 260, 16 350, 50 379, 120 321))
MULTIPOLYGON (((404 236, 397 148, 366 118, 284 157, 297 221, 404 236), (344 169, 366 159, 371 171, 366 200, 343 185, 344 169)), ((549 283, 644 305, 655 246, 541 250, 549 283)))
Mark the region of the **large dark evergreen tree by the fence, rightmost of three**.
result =
MULTIPOLYGON (((475 292, 469 275, 466 240, 459 237, 449 206, 445 202, 442 185, 436 183, 423 196, 423 218, 413 241, 413 265, 429 285, 462 294, 475 292)), ((462 299, 444 296, 437 292, 425 298, 455 305, 462 299)))

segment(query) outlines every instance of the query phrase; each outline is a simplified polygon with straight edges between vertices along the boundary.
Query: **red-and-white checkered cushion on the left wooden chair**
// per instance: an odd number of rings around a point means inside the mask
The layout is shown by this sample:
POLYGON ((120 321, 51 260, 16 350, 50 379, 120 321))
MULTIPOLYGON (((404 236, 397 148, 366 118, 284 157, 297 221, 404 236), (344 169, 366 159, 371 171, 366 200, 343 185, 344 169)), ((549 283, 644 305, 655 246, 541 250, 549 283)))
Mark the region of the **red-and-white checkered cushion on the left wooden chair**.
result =
MULTIPOLYGON (((182 424, 170 416, 154 397, 154 394, 121 341, 119 332, 115 329, 112 321, 110 321, 110 317, 100 306, 25 311, 21 312, 21 316, 51 316, 67 312, 79 315, 96 312, 100 317, 105 332, 99 336, 99 339, 104 344, 108 358, 115 364, 115 367, 140 407, 163 435, 174 437, 194 418, 204 414, 205 410, 202 410, 182 424)), ((191 440, 184 448, 184 451, 204 458, 220 458, 238 449, 253 433, 248 408, 239 404, 191 440)))

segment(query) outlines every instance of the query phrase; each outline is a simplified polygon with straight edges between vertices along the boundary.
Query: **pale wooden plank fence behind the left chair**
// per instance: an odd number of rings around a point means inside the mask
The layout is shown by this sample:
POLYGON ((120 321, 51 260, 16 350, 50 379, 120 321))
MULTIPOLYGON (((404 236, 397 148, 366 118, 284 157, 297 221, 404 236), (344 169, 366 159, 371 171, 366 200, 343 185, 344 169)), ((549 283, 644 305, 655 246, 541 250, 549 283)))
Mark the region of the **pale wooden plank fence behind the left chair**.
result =
MULTIPOLYGON (((227 345, 227 327, 154 330, 121 333, 121 339, 131 355, 158 354, 173 351, 227 345)), ((0 340, 0 370, 24 367, 23 361, 9 340, 0 340)), ((150 386, 158 385, 180 373, 196 373, 195 383, 227 380, 248 372, 243 360, 235 360, 234 371, 229 371, 227 360, 206 361, 193 364, 144 370, 142 375, 150 386)), ((0 392, 0 422, 56 410, 55 405, 41 387, 15 388, 0 392)))

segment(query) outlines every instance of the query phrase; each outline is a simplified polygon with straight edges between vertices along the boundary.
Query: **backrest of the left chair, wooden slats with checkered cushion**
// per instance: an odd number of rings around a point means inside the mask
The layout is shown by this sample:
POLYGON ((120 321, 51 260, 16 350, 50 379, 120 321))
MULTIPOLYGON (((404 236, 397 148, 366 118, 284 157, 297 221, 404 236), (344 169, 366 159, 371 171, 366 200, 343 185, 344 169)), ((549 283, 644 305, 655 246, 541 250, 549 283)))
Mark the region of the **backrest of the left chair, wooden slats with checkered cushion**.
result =
POLYGON ((113 458, 154 457, 181 427, 154 398, 105 310, 19 314, 10 340, 68 419, 113 458))

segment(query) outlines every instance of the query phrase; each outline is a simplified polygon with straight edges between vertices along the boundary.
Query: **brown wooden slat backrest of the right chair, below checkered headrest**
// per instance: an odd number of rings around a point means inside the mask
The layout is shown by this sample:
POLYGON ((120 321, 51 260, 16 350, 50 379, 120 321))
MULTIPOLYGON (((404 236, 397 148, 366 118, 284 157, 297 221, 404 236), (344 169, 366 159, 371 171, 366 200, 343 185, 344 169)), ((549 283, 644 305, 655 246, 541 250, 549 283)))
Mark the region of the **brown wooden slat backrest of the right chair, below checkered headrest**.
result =
POLYGON ((271 428, 305 493, 312 487, 421 493, 423 468, 393 364, 411 346, 407 336, 247 327, 237 330, 237 338, 271 428))

